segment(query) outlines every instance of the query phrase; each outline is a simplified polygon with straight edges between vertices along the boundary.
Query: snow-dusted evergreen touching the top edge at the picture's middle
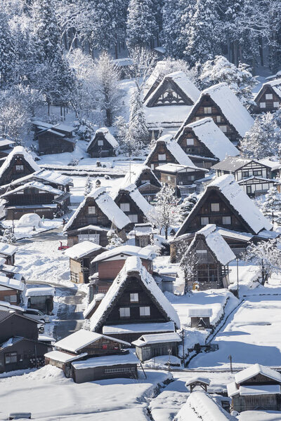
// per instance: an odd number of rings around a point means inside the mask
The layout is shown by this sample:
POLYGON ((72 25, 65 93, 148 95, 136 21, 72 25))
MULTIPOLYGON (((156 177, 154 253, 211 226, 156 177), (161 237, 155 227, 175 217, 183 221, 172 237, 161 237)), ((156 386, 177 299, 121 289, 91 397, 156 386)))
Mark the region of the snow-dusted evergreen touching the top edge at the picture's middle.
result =
POLYGON ((152 0, 130 0, 126 24, 128 48, 148 46, 157 32, 152 0))

